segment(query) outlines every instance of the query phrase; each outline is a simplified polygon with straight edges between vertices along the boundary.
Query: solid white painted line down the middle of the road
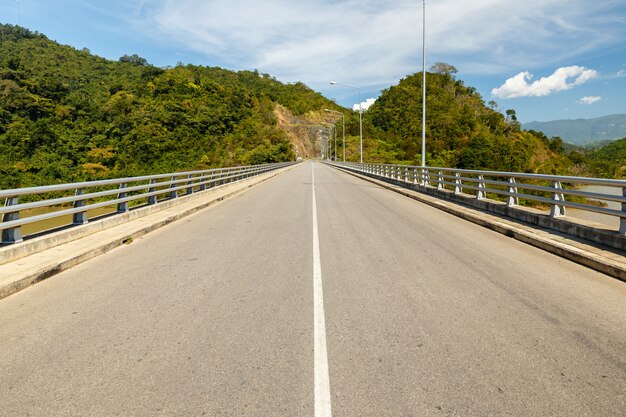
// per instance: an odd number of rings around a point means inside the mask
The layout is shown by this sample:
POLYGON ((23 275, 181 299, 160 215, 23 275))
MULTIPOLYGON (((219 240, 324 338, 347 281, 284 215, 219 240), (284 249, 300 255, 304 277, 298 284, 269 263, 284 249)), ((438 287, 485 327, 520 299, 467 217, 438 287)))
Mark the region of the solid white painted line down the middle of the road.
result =
POLYGON ((326 352, 326 319, 324 317, 324 292, 322 291, 322 264, 317 231, 317 202, 315 200, 315 169, 311 164, 313 189, 313 362, 315 367, 315 417, 331 417, 330 377, 326 352))

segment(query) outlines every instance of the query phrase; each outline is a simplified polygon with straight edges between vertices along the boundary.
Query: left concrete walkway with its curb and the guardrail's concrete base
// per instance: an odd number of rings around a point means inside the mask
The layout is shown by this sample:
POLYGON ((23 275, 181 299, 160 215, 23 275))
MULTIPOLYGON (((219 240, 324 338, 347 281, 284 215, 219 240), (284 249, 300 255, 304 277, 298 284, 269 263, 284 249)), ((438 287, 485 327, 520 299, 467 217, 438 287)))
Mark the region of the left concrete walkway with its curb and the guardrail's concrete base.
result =
POLYGON ((0 299, 245 192, 294 166, 4 247, 0 249, 0 299))

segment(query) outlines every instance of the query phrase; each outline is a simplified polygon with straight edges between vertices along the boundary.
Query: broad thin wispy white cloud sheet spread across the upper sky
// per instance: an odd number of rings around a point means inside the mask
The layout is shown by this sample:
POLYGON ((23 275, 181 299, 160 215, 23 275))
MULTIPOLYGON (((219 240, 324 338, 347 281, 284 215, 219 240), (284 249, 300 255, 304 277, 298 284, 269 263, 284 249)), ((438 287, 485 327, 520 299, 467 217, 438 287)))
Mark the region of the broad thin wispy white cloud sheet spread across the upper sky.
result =
MULTIPOLYGON (((331 90, 331 79, 374 91, 421 69, 422 3, 415 0, 130 1, 138 4, 130 19, 142 36, 203 54, 206 65, 256 68, 331 96, 354 93, 331 90)), ((626 38, 619 3, 429 1, 427 64, 482 75, 574 61, 626 38)))

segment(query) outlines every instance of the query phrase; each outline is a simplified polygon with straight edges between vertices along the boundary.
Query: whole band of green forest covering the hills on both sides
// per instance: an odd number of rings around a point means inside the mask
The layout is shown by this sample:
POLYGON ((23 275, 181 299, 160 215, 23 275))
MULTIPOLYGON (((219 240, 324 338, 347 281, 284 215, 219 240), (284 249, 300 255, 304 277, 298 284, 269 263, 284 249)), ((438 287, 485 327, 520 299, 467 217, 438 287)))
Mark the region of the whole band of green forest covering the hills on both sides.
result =
MULTIPOLYGON (((455 73, 447 64, 428 73, 428 165, 625 174, 626 139, 584 150, 524 131, 515 111, 486 105, 455 73)), ((366 161, 420 163, 421 79, 384 90, 364 113, 366 161)), ((257 71, 157 68, 137 55, 109 61, 0 25, 0 188, 317 155, 320 126, 341 124, 325 108, 346 115, 346 155, 358 160, 358 112, 302 83, 257 71), (308 143, 299 138, 306 135, 308 143)))

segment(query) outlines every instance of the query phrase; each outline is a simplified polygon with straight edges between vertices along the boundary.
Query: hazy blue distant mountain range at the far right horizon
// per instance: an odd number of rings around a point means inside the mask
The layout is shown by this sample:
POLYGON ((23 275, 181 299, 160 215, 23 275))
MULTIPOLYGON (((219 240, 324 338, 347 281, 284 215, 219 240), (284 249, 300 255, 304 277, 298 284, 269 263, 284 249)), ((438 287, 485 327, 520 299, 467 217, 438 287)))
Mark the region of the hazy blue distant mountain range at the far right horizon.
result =
POLYGON ((614 114, 596 119, 530 122, 524 123, 522 128, 543 132, 548 137, 559 136, 565 142, 575 145, 585 145, 626 138, 626 114, 614 114))

